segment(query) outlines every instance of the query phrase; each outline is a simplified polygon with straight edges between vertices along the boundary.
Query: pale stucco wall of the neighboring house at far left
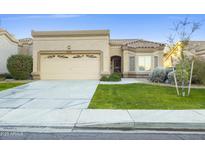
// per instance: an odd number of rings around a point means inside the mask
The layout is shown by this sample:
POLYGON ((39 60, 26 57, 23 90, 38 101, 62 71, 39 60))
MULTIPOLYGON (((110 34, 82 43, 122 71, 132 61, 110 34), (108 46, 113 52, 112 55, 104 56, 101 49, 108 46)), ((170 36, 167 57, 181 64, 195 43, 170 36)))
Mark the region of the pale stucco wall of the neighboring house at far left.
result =
POLYGON ((0 34, 0 73, 8 73, 7 59, 18 53, 18 43, 12 42, 6 35, 0 34))

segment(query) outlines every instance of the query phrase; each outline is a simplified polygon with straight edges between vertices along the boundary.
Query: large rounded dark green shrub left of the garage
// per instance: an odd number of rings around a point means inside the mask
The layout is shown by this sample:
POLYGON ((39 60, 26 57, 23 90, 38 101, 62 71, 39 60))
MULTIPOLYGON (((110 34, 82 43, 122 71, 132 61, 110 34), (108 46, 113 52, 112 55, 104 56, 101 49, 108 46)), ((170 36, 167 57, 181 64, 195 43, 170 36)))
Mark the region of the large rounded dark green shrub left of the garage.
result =
POLYGON ((7 68, 16 80, 29 79, 33 67, 33 60, 28 55, 13 55, 7 60, 7 68))

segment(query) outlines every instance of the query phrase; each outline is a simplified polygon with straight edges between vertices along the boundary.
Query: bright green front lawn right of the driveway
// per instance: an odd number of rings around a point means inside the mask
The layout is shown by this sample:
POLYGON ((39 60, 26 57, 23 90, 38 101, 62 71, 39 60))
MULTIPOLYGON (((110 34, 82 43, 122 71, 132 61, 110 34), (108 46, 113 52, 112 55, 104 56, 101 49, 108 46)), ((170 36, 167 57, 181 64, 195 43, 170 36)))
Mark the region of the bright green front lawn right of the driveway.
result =
POLYGON ((179 97, 175 88, 148 84, 98 85, 91 109, 205 109, 205 89, 179 97))

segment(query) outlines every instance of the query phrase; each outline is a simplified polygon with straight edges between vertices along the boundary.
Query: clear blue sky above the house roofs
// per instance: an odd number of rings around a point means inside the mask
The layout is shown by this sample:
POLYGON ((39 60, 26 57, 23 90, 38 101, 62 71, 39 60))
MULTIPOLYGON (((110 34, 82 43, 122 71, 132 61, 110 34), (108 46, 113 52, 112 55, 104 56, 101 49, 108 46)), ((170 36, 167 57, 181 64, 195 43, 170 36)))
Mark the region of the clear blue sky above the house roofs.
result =
POLYGON ((193 39, 205 40, 205 15, 0 15, 0 27, 18 39, 31 37, 31 30, 94 30, 109 29, 111 38, 138 38, 166 42, 175 21, 188 17, 203 21, 193 39))

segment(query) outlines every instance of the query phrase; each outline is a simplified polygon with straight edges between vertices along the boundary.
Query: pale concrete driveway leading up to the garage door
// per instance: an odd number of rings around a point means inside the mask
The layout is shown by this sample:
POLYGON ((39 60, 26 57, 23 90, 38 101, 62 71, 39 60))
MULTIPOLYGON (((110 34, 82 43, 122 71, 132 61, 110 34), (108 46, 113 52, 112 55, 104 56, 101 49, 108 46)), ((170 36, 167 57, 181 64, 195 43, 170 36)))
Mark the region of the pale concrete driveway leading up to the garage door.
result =
POLYGON ((87 108, 99 81, 34 81, 0 92, 0 109, 87 108))

